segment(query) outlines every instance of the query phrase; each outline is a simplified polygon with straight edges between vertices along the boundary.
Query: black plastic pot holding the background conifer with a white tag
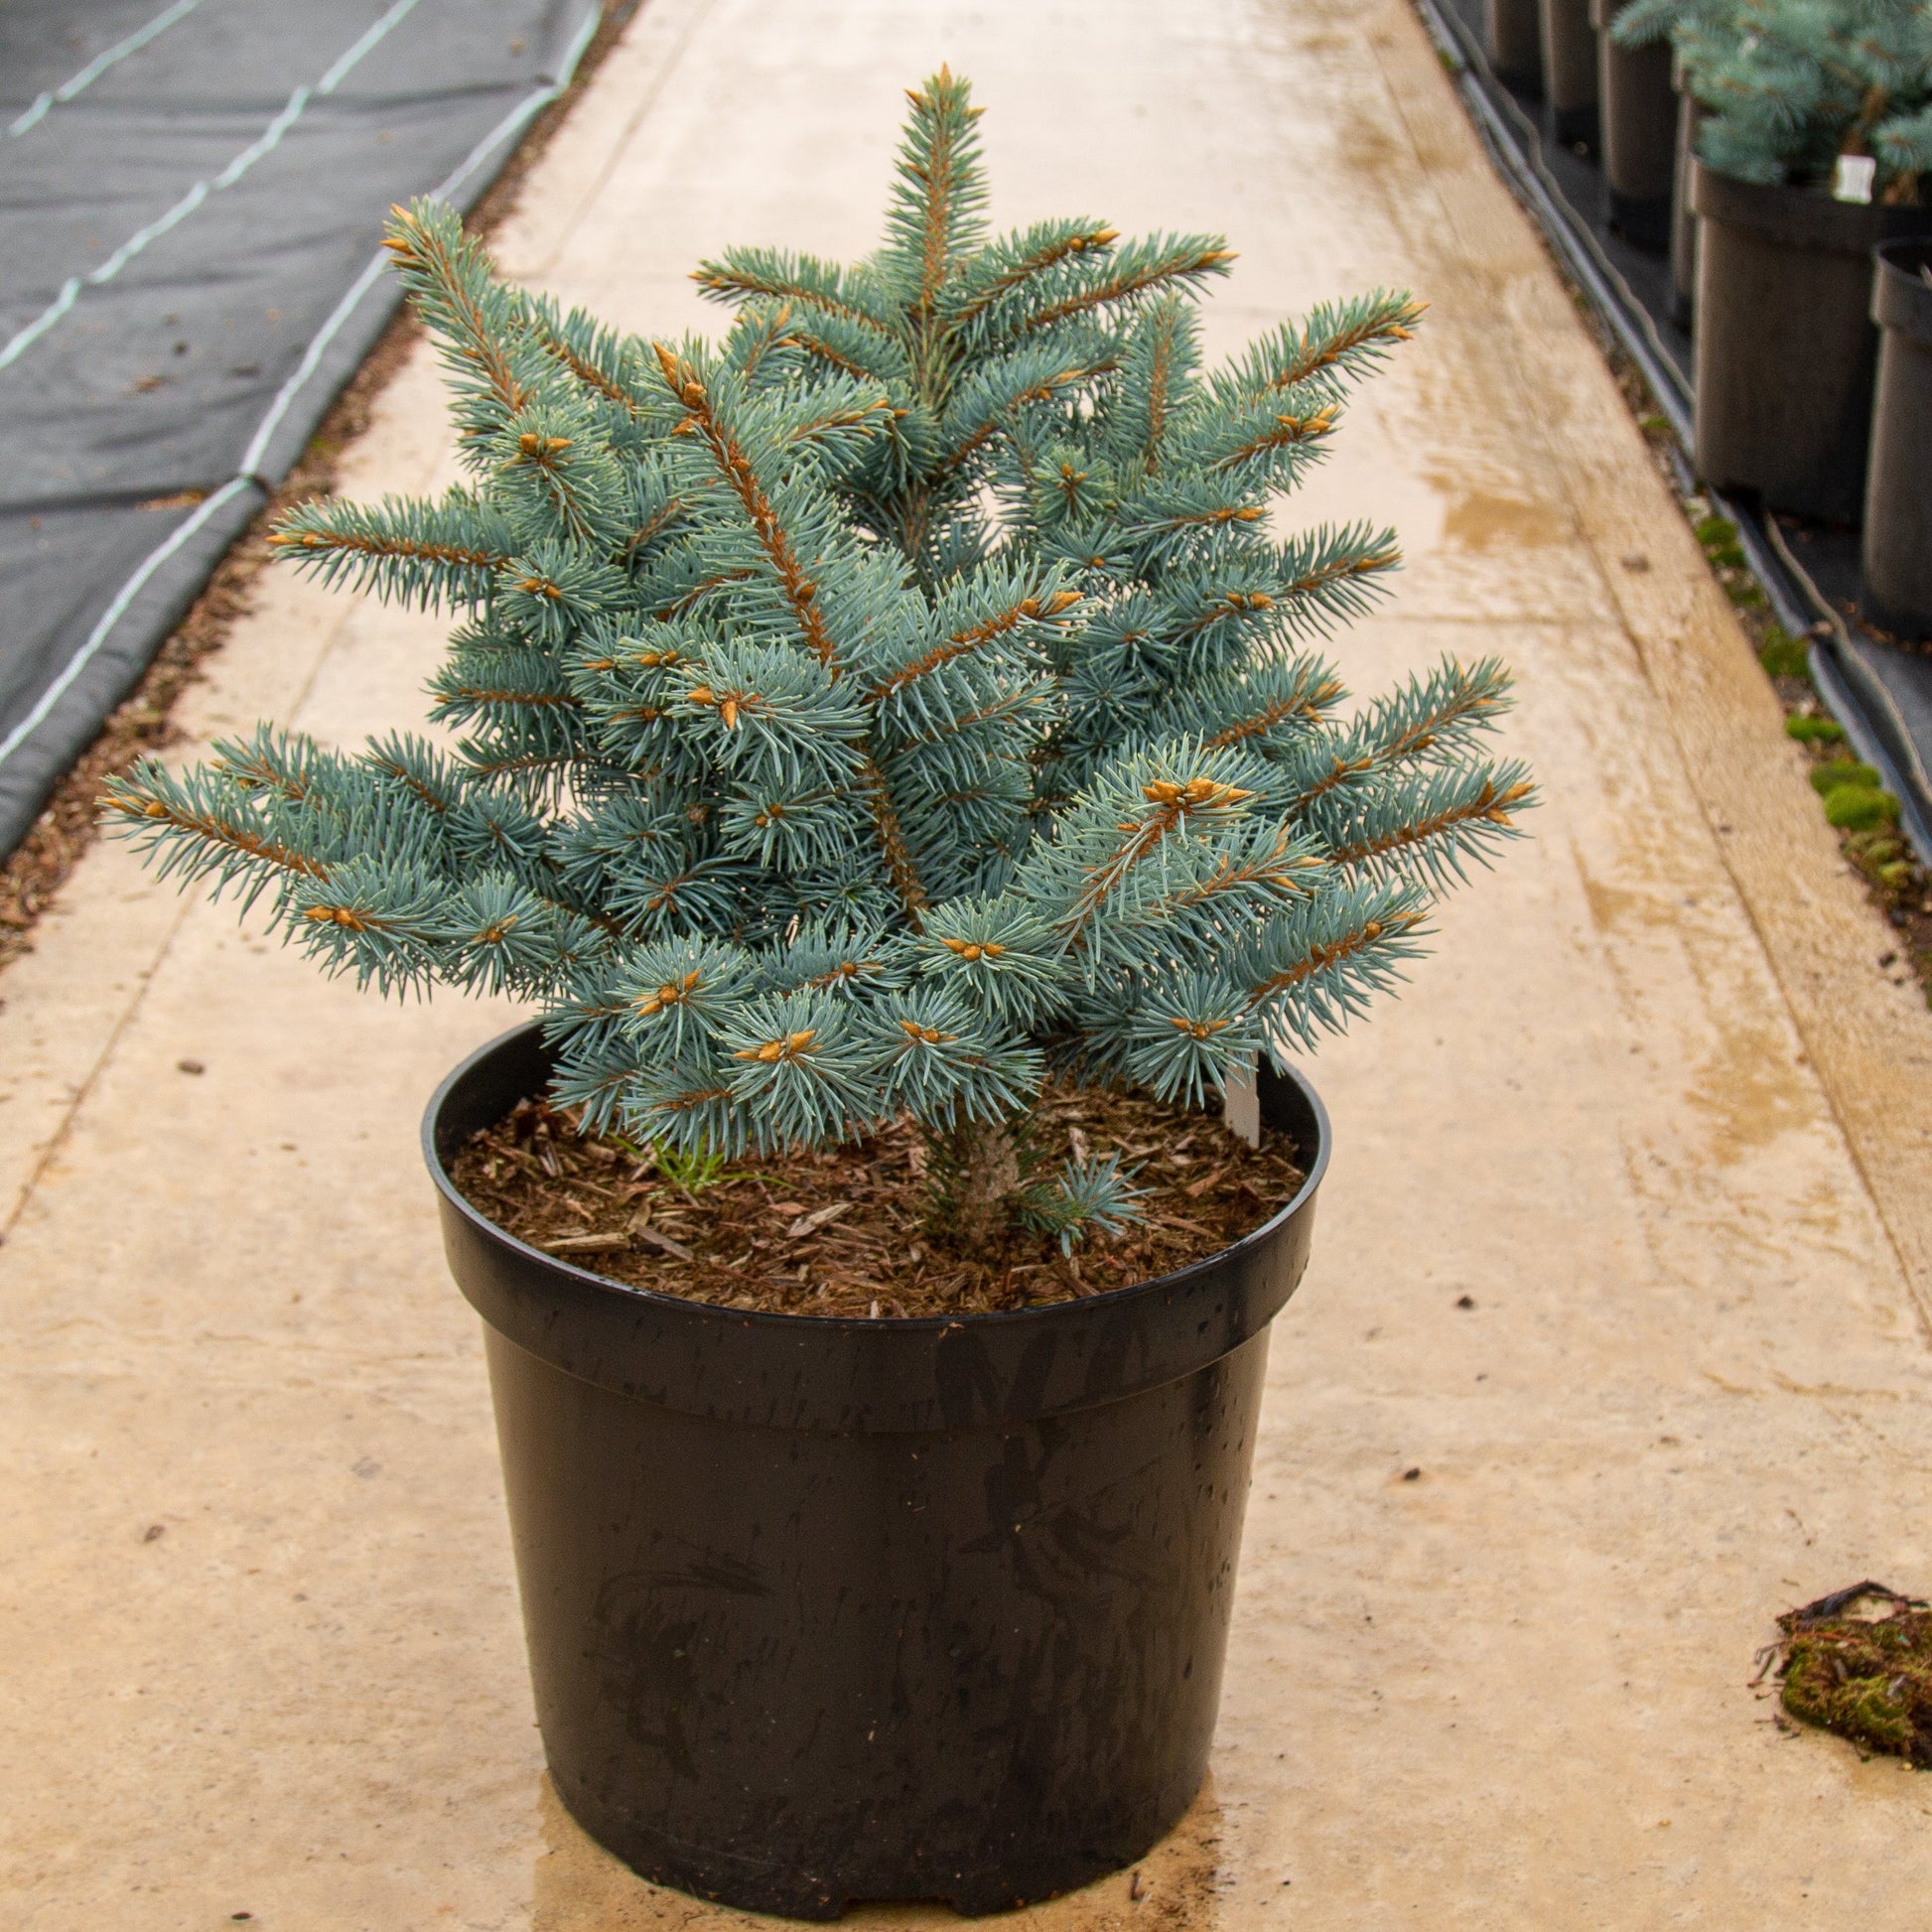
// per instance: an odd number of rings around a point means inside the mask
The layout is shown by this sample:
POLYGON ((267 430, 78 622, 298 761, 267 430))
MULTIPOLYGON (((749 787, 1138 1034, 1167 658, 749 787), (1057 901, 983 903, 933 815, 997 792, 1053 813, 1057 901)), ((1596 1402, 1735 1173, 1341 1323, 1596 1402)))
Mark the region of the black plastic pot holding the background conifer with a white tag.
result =
POLYGON ((1692 164, 1696 469, 1772 510, 1857 522, 1878 330, 1870 253, 1932 207, 1833 201, 1692 164))

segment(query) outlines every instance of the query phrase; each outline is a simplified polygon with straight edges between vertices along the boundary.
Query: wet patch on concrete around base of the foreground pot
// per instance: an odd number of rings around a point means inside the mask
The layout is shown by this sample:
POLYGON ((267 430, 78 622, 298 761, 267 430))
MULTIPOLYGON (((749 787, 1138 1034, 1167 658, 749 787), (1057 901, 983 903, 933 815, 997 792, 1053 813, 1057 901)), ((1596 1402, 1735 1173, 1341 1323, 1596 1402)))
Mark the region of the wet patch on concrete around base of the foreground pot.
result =
MULTIPOLYGON (((707 1905, 638 1878, 611 1857, 564 1810, 549 1777, 537 1795, 545 1851, 531 1882, 531 1932, 773 1932, 798 1924, 724 1905, 707 1905)), ((1097 1884, 1001 1913, 960 1918, 943 1905, 860 1905, 837 1924, 852 1932, 966 1932, 970 1926, 1012 1932, 1215 1932, 1221 1922, 1221 1804, 1213 1779, 1194 1808, 1138 1866, 1097 1884)))

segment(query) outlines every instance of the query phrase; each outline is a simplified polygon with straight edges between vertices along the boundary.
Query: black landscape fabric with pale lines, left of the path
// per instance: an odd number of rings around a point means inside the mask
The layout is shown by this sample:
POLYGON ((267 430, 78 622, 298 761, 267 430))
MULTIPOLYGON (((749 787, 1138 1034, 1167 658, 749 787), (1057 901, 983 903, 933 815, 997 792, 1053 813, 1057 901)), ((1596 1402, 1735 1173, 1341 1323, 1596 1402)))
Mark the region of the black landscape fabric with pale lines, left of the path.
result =
POLYGON ((288 473, 601 0, 0 0, 0 856, 288 473))

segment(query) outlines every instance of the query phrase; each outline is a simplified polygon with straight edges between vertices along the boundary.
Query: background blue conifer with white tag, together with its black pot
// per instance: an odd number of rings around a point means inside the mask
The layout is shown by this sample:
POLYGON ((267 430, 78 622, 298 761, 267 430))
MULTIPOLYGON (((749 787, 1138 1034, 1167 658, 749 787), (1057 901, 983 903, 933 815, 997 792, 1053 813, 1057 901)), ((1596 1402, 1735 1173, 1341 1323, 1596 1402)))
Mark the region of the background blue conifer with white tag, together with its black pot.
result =
POLYGON ((1853 522, 1864 500, 1876 243, 1932 232, 1932 8, 1920 0, 1634 0, 1669 23, 1704 106, 1696 464, 1774 510, 1853 522))

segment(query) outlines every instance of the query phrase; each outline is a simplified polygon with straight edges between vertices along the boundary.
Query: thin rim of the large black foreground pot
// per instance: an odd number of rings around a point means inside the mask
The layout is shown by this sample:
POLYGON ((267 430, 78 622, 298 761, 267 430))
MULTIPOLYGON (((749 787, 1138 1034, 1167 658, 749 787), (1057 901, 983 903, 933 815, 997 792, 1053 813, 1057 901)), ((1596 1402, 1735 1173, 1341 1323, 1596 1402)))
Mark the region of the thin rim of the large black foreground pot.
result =
POLYGON ((893 1333, 910 1331, 941 1331, 941 1329, 960 1329, 960 1327, 993 1327, 1003 1323, 1026 1323, 1039 1320, 1053 1320, 1068 1308, 1099 1310, 1099 1308, 1122 1308, 1138 1296, 1159 1298, 1171 1294, 1175 1289, 1194 1283, 1198 1277, 1211 1269, 1221 1269, 1231 1258, 1242 1256, 1254 1248, 1267 1244, 1281 1229, 1300 1211, 1300 1208, 1312 1200, 1321 1179, 1327 1175, 1329 1153, 1333 1150, 1333 1128, 1329 1124, 1327 1107, 1321 1103, 1321 1095, 1314 1090, 1310 1080, 1293 1063, 1287 1065, 1279 1078, 1289 1080, 1302 1095, 1308 1111, 1314 1119, 1316 1128, 1316 1150, 1314 1159, 1308 1163, 1308 1171, 1302 1175, 1302 1184, 1294 1194, 1283 1202, 1283 1206, 1271 1213, 1260 1227, 1250 1229, 1240 1240, 1229 1242, 1225 1248, 1215 1248, 1213 1254, 1206 1254, 1196 1262, 1188 1262, 1184 1267, 1177 1267, 1165 1275, 1150 1275, 1146 1281, 1130 1281, 1119 1289, 1101 1289, 1095 1294, 1080 1296, 1078 1300, 1066 1302, 1041 1302, 1036 1308, 985 1308, 985 1310, 964 1310, 958 1314, 943 1316, 794 1316, 773 1308, 728 1308, 723 1302, 699 1302, 684 1294, 667 1294, 663 1289, 643 1289, 628 1281, 612 1281, 611 1275, 599 1275, 589 1267, 568 1260, 560 1254, 549 1254, 543 1248, 533 1248, 526 1240, 518 1240, 500 1223, 491 1221, 464 1192, 456 1186, 448 1169, 442 1163, 442 1153, 437 1148, 437 1124, 448 1105, 450 1094, 456 1086, 479 1066, 491 1055, 502 1051, 510 1041, 541 1036, 543 1020, 524 1020, 518 1026, 497 1034, 493 1039, 483 1041, 471 1053, 466 1053, 456 1066, 437 1084, 435 1094, 429 1097, 429 1105, 423 1109, 421 1124, 421 1146, 423 1163, 429 1167, 431 1179, 435 1180, 444 1202, 460 1213, 479 1235, 491 1242, 500 1242, 502 1246, 514 1250, 516 1254, 535 1262, 539 1267, 556 1269, 583 1287, 603 1289, 616 1296, 628 1296, 634 1302, 645 1306, 655 1306, 665 1312, 684 1312, 684 1314, 713 1314, 728 1318, 734 1325, 755 1323, 771 1325, 779 1329, 798 1331, 800 1323, 810 1323, 815 1333, 825 1331, 850 1331, 860 1335, 877 1335, 881 1329, 891 1329, 893 1333))

